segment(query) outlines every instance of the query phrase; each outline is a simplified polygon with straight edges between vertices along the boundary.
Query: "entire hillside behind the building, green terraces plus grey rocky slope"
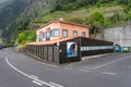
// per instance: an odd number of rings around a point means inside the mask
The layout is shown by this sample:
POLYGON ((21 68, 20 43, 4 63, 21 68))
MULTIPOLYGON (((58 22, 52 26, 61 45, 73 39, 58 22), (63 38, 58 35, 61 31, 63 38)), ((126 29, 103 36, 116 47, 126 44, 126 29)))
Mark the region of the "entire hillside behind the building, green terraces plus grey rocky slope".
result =
MULTIPOLYGON (((21 11, 22 12, 22 11, 21 11)), ((29 0, 20 17, 2 33, 4 41, 13 44, 19 33, 62 17, 102 32, 106 27, 131 20, 130 0, 29 0)), ((4 24, 3 24, 4 25, 4 24)))

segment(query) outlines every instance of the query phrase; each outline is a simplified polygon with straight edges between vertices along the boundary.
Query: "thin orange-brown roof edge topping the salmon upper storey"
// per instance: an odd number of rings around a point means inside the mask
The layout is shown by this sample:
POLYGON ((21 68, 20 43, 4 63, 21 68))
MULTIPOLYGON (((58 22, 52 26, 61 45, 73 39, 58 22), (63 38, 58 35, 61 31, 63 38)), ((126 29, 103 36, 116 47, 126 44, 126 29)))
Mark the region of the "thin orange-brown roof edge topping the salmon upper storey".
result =
POLYGON ((70 23, 70 22, 66 22, 66 21, 51 21, 51 22, 49 22, 49 23, 47 23, 47 24, 45 24, 45 25, 41 25, 40 27, 38 27, 36 30, 38 30, 38 29, 40 29, 40 28, 43 28, 43 27, 45 27, 45 26, 47 26, 47 25, 49 25, 49 24, 51 24, 51 23, 64 23, 64 24, 70 24, 70 25, 75 25, 75 26, 81 26, 81 27, 88 27, 88 26, 85 26, 85 25, 81 25, 81 24, 75 24, 75 23, 70 23))

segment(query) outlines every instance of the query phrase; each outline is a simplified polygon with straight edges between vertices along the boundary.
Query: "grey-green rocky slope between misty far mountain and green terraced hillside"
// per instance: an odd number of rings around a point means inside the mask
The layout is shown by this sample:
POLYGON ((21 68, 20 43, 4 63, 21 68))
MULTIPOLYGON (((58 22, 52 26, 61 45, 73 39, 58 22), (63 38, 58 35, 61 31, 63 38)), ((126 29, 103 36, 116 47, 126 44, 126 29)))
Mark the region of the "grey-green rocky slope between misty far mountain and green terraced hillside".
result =
POLYGON ((28 5, 20 17, 10 23, 2 33, 2 37, 7 44, 13 44, 16 39, 17 32, 27 29, 29 22, 36 17, 48 14, 53 11, 58 0, 31 0, 28 5))

